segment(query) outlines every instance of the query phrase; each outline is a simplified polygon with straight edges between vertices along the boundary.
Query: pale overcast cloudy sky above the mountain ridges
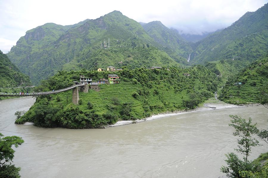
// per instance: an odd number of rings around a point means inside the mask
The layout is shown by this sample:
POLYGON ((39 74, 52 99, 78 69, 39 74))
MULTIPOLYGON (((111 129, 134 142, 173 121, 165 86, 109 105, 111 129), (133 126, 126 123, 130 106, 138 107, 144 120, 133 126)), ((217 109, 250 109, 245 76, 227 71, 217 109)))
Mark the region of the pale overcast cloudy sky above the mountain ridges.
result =
POLYGON ((185 34, 230 26, 268 0, 0 0, 0 50, 10 51, 27 30, 45 23, 71 25, 119 10, 138 22, 161 21, 185 34))

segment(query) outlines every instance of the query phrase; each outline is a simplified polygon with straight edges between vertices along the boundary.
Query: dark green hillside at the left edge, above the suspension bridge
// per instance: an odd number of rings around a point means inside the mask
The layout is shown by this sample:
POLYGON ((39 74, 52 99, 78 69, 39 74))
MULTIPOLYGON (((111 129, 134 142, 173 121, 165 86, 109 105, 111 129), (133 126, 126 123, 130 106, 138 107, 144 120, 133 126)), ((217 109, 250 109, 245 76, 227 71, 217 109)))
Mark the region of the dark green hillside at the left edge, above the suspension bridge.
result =
POLYGON ((17 87, 31 85, 30 79, 21 73, 0 50, 0 87, 17 87))

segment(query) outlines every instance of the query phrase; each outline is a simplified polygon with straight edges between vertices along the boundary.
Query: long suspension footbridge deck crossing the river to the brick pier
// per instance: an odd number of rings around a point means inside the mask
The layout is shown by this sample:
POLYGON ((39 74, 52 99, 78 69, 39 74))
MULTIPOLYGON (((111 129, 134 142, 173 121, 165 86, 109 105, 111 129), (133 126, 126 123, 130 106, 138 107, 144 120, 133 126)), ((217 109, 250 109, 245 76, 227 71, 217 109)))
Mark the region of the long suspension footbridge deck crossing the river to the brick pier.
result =
POLYGON ((73 85, 73 86, 69 86, 69 87, 64 88, 64 89, 55 90, 54 92, 49 91, 49 92, 38 92, 38 93, 28 93, 28 94, 24 93, 23 95, 19 94, 19 93, 0 93, 0 96, 18 96, 18 97, 21 97, 21 96, 39 96, 39 95, 46 95, 46 94, 55 94, 55 93, 65 92, 65 91, 73 89, 77 86, 83 86, 83 85, 84 84, 73 85))

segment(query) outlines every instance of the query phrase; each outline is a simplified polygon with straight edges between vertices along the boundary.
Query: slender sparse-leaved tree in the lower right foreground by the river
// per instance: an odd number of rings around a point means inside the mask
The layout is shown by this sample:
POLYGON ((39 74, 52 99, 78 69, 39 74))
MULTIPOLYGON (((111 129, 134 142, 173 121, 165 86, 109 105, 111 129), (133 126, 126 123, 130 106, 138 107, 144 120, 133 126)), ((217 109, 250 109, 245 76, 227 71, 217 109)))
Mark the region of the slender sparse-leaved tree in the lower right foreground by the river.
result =
POLYGON ((230 115, 233 119, 231 120, 232 126, 235 128, 233 136, 239 136, 241 139, 237 139, 238 149, 235 149, 237 152, 245 155, 243 160, 240 160, 239 157, 234 153, 226 154, 227 159, 225 162, 228 167, 222 166, 221 171, 226 173, 227 177, 236 178, 240 177, 239 171, 256 171, 258 168, 257 165, 250 163, 248 156, 250 155, 251 147, 259 145, 258 140, 252 138, 253 134, 258 134, 258 129, 256 127, 257 123, 251 124, 252 119, 249 118, 247 122, 245 119, 239 116, 230 115))

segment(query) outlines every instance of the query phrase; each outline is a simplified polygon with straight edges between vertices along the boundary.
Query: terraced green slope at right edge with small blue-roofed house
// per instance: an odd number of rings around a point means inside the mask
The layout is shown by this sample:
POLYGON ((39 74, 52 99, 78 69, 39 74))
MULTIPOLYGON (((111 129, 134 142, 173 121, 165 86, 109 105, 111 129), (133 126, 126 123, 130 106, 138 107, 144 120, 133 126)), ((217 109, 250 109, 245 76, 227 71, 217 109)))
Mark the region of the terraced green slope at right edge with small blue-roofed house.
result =
POLYGON ((267 84, 268 56, 265 56, 244 68, 237 75, 228 78, 219 99, 232 104, 256 103, 259 88, 267 84), (234 85, 236 82, 241 84, 234 85))

